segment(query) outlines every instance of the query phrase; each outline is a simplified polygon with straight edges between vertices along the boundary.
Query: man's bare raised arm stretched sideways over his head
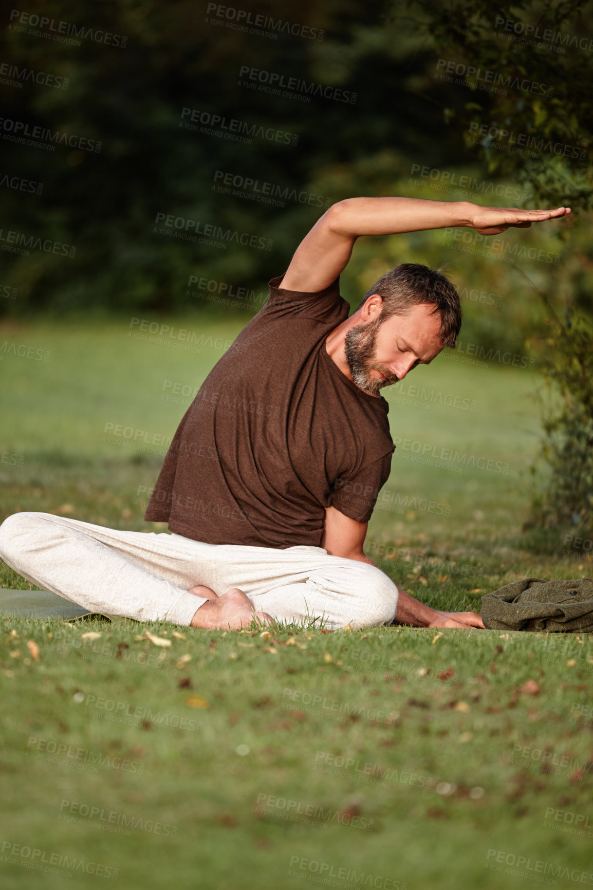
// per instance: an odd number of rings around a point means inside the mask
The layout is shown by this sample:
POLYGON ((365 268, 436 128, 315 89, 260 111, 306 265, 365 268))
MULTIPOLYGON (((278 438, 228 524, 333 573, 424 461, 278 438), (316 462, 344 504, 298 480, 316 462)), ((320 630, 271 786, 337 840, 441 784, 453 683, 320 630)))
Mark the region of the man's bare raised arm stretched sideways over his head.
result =
POLYGON ((346 198, 330 206, 301 241, 281 287, 306 292, 329 287, 345 270, 354 241, 361 235, 395 235, 452 226, 468 226, 483 235, 498 235, 509 226, 527 229, 532 223, 570 212, 570 207, 521 210, 517 207, 482 207, 469 201, 346 198))

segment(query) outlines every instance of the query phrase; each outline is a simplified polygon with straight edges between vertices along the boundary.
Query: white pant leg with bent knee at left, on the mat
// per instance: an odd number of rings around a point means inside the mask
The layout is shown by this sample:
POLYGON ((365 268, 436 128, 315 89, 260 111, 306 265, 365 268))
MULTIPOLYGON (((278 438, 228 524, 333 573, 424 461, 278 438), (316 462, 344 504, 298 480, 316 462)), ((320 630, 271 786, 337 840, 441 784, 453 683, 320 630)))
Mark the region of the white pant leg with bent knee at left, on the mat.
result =
POLYGON ((189 626, 206 600, 187 591, 217 587, 215 549, 48 513, 12 514, 0 526, 0 556, 23 578, 90 611, 137 621, 189 626))

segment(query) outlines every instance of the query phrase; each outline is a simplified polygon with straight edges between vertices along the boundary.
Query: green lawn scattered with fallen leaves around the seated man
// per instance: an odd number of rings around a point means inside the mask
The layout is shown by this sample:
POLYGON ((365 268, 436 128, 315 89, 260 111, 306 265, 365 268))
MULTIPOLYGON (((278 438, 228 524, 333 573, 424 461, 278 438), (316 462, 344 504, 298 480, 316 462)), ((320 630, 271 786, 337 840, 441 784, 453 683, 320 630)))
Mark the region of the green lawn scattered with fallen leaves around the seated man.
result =
MULTIPOLYGON (((244 321, 175 324, 214 342, 244 321)), ((19 459, 0 463, 3 515, 162 530, 142 521, 139 487, 154 484, 164 455, 103 441, 105 427, 170 439, 189 400, 161 400, 172 389, 165 382, 199 386, 221 353, 134 341, 128 324, 5 328, 3 343, 51 354, 4 354, 0 450, 19 459)), ((419 442, 468 457, 462 473, 394 458, 390 499, 370 522, 367 552, 389 557, 378 564, 427 603, 476 611, 484 592, 514 578, 590 574, 586 553, 532 553, 521 533, 537 377, 441 359, 406 383, 476 404, 456 409, 433 397, 426 410, 390 394, 396 453, 411 457, 419 442), (508 464, 508 473, 470 467, 472 455, 508 464)), ((2 564, 0 587, 30 585, 2 564)), ((119 870, 118 886, 147 890, 325 878, 358 888, 371 886, 369 875, 374 886, 498 890, 558 867, 548 879, 569 887, 590 869, 590 838, 561 830, 573 827, 564 813, 580 828, 593 823, 591 721, 576 722, 589 716, 589 637, 275 627, 264 638, 146 627, 171 646, 150 643, 128 619, 0 621, 4 845, 102 863, 119 870), (83 639, 89 632, 101 636, 83 639), (539 692, 524 688, 530 679, 539 692), (175 725, 182 721, 187 728, 175 725), (59 758, 53 746, 63 746, 59 758), (92 824, 65 821, 80 818, 73 804, 98 808, 92 824), (288 806, 311 823, 281 818, 288 806), (518 868, 527 878, 505 872, 511 865, 497 864, 498 854, 531 859, 518 868), (548 864, 536 871, 536 861, 548 864), (579 878, 566 876, 575 870, 579 878)), ((10 849, 0 855, 3 890, 101 883, 80 870, 68 881, 28 875, 8 862, 10 849)))

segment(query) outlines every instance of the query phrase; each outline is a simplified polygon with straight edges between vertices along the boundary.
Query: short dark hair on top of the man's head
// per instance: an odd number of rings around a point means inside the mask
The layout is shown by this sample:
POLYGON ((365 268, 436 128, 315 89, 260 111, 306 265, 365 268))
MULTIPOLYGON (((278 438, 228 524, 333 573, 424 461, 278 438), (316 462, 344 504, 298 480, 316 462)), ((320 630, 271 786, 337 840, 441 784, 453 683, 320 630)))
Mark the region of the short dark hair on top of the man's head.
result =
POLYGON ((443 272, 420 263, 400 263, 369 288, 357 309, 373 294, 383 297, 381 321, 403 315, 419 303, 435 303, 434 312, 441 316, 439 336, 446 346, 455 348, 461 329, 461 305, 457 290, 443 272))

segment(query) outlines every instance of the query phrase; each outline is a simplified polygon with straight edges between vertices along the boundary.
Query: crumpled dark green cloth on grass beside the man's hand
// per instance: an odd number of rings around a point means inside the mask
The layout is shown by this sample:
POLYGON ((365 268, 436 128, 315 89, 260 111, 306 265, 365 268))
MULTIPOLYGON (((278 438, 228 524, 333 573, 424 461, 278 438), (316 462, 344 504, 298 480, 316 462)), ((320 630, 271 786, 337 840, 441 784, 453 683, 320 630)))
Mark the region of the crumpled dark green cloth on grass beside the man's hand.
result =
POLYGON ((489 630, 593 631, 593 580, 521 578, 484 595, 480 614, 489 630))

